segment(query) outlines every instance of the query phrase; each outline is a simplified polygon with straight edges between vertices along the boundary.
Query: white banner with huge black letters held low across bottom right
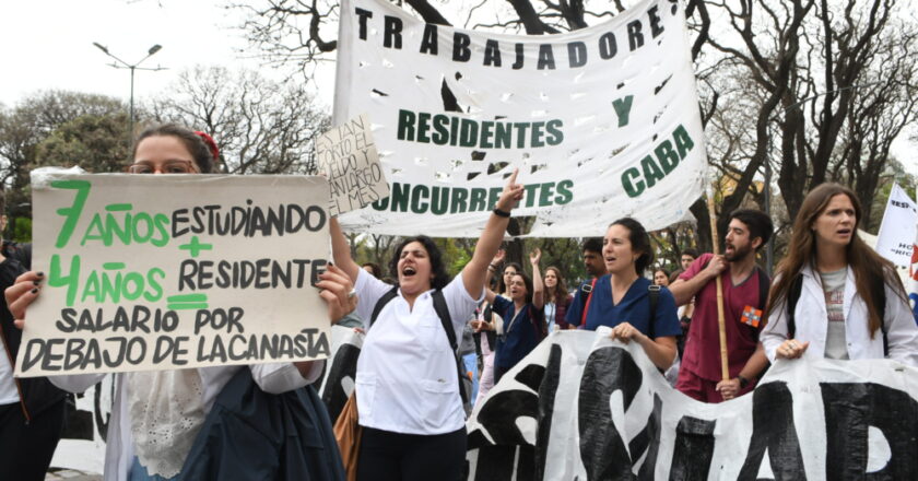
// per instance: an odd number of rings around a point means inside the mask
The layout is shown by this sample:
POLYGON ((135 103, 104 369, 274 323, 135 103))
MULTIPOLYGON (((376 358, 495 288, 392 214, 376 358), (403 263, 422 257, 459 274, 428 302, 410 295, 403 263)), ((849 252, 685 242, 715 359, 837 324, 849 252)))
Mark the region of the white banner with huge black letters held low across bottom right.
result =
POLYGON ((552 333, 475 406, 470 481, 918 478, 914 367, 780 360, 706 404, 608 333, 552 333))

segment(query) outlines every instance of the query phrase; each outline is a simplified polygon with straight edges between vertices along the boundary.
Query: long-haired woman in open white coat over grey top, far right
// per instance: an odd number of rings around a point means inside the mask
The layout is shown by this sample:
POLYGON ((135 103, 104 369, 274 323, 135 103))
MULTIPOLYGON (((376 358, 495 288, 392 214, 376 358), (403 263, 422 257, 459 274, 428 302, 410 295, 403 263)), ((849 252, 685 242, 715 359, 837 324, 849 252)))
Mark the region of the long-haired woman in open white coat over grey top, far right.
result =
POLYGON ((858 236, 861 207, 838 184, 811 190, 778 265, 762 344, 784 359, 883 359, 918 365, 918 327, 895 268, 858 236))

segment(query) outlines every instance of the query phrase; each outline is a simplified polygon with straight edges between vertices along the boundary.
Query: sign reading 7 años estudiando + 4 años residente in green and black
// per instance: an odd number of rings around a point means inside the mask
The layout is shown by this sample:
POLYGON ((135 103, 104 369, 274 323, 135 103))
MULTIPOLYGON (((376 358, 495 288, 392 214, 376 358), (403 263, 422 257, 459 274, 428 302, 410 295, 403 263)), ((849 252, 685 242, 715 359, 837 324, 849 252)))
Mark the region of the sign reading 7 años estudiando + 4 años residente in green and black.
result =
POLYGON ((311 284, 328 183, 303 176, 33 174, 33 268, 16 375, 323 359, 311 284))

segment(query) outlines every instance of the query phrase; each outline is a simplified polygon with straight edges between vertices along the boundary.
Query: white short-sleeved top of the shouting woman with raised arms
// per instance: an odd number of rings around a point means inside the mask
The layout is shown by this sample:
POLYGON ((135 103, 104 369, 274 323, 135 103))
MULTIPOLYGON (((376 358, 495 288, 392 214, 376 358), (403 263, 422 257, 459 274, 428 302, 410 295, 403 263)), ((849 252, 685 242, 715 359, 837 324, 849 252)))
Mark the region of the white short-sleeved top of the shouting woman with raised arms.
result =
MULTIPOLYGON (((369 329, 376 302, 392 286, 360 269, 355 289, 357 313, 368 329, 355 382, 361 425, 424 435, 462 429, 466 412, 456 359, 434 309, 434 291, 417 296, 413 308, 399 291, 369 329)), ((461 274, 443 289, 443 295, 459 339, 482 296, 469 295, 461 274)))

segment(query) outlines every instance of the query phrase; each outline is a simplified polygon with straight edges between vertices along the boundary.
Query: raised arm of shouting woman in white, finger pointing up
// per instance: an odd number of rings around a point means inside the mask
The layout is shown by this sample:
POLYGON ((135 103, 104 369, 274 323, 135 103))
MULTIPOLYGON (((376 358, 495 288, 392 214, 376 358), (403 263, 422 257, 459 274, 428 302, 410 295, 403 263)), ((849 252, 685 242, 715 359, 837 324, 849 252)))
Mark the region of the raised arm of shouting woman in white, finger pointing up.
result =
MULTIPOLYGON (((472 255, 472 260, 462 269, 462 283, 466 285, 466 291, 469 292, 473 298, 481 295, 481 290, 487 280, 487 266, 491 259, 497 254, 497 248, 504 241, 504 233, 507 231, 507 224, 510 222, 509 213, 513 211, 517 201, 522 199, 523 186, 516 183, 519 169, 515 169, 507 185, 504 186, 504 191, 501 192, 501 198, 497 199, 497 204, 494 206, 495 212, 491 213, 487 219, 487 224, 475 244, 475 251, 472 255), (498 215, 497 211, 507 215, 498 215)), ((336 258, 336 262, 338 259, 336 258)))

